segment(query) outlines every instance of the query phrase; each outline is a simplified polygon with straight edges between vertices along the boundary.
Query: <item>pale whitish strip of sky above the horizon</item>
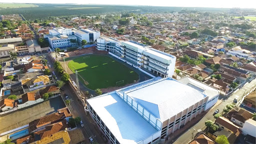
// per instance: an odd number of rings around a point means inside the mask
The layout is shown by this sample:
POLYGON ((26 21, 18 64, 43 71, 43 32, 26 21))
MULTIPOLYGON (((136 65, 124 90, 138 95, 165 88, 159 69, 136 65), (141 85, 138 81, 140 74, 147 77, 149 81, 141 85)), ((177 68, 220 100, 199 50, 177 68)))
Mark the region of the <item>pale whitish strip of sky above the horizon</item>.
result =
POLYGON ((256 8, 256 0, 0 0, 1 2, 20 3, 95 3, 181 7, 241 7, 256 8))

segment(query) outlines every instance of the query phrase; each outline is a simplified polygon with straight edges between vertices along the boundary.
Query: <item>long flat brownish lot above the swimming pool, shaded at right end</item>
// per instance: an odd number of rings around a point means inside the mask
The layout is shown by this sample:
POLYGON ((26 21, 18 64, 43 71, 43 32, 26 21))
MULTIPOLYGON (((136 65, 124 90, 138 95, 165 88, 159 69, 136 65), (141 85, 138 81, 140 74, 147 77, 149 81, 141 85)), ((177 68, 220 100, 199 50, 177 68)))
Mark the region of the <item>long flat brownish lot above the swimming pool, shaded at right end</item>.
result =
POLYGON ((61 97, 56 97, 40 104, 26 107, 0 117, 0 133, 27 125, 29 122, 57 112, 64 108, 65 104, 61 97))

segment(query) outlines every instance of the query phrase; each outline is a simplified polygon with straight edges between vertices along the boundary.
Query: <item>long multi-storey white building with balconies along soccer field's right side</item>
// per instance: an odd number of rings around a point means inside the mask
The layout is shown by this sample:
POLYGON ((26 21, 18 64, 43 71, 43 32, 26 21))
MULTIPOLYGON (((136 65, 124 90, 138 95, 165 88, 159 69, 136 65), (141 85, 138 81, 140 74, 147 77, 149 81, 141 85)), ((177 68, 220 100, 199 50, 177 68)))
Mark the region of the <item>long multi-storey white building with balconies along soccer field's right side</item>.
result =
POLYGON ((172 77, 176 57, 132 40, 119 41, 101 36, 96 48, 106 50, 109 54, 126 63, 160 77, 172 77))

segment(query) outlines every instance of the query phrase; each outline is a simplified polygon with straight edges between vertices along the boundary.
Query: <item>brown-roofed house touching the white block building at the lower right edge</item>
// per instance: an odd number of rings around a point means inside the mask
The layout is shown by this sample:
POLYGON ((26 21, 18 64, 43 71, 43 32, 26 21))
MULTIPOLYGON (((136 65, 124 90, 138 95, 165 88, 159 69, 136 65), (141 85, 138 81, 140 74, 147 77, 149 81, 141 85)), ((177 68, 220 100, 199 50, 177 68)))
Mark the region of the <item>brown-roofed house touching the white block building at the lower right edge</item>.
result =
POLYGON ((227 113, 226 118, 229 119, 234 124, 242 127, 246 120, 252 118, 252 114, 244 109, 241 109, 235 106, 233 107, 232 110, 230 110, 227 113))

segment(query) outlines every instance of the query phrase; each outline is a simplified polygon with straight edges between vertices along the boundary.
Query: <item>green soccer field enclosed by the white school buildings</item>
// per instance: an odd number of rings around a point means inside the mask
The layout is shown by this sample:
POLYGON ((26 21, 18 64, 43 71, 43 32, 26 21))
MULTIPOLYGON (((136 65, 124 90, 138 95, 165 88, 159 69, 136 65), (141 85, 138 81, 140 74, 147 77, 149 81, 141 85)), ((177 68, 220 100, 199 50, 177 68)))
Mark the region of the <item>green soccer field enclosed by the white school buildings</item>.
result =
POLYGON ((71 60, 68 67, 72 72, 77 70, 79 80, 92 90, 115 87, 116 82, 121 80, 123 83, 117 86, 123 86, 139 79, 136 72, 108 56, 90 55, 88 58, 81 56, 71 60))

